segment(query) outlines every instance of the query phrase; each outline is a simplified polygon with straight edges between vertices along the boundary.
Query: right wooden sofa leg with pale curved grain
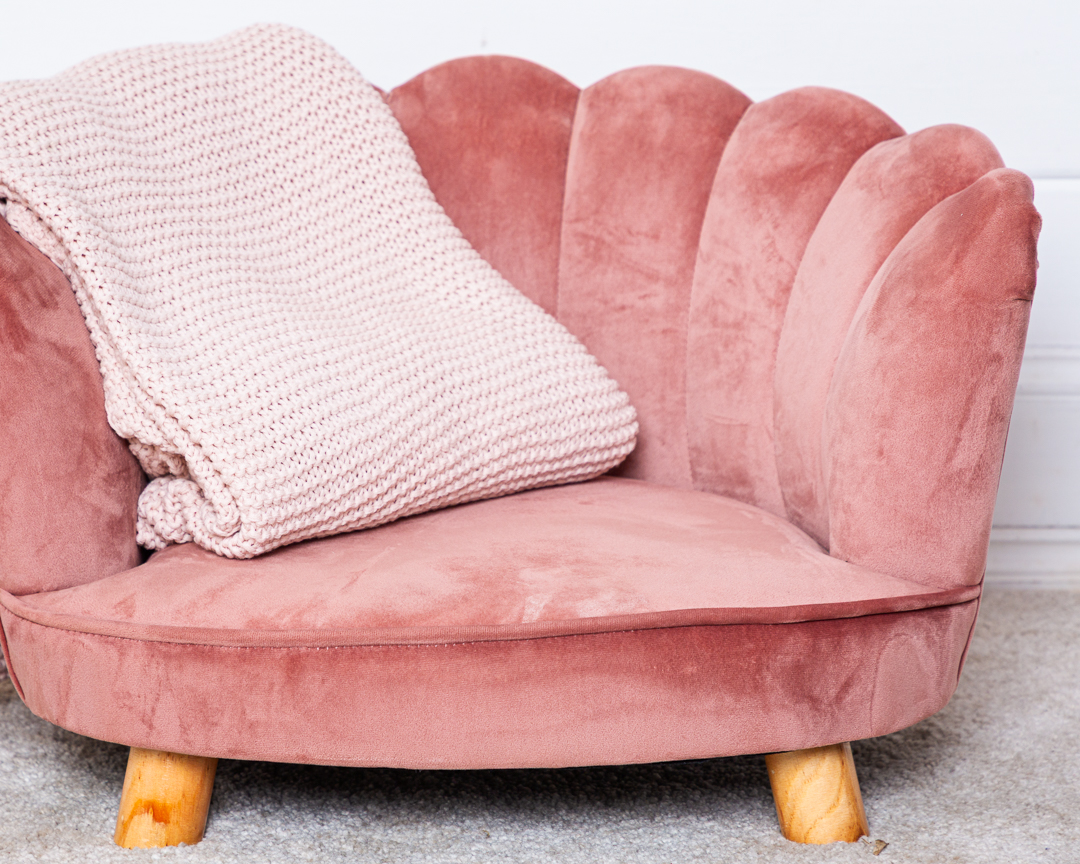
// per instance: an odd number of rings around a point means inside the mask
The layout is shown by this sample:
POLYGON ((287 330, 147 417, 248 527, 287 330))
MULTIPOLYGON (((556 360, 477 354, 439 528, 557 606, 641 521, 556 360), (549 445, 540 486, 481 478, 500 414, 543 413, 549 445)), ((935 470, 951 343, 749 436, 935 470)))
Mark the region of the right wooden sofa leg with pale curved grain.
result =
POLYGON ((853 843, 869 835, 851 744, 765 757, 780 829, 797 843, 853 843))

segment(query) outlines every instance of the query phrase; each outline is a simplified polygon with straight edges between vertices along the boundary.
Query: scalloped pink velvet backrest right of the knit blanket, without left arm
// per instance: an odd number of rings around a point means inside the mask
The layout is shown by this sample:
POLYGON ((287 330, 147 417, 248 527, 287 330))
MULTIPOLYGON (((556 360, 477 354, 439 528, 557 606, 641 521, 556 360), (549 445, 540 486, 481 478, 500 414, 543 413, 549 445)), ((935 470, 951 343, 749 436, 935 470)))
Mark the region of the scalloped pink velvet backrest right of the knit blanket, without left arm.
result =
POLYGON ((444 64, 394 91, 390 104, 465 237, 630 394, 640 434, 619 473, 756 504, 835 555, 928 585, 977 582, 1038 233, 1029 185, 1015 172, 995 173, 1000 157, 985 137, 962 126, 905 135, 863 99, 820 87, 752 105, 717 79, 666 67, 619 72, 578 94, 505 57, 444 64), (503 80, 513 99, 495 95, 503 80), (434 119, 400 110, 428 89, 443 100, 434 119), (501 114, 511 102, 536 148, 508 132, 519 122, 501 114), (473 112, 468 134, 437 119, 459 110, 473 112), (426 154, 429 140, 437 156, 426 154), (495 185, 453 168, 489 160, 501 178, 495 185), (537 165, 557 188, 515 195, 537 165), (500 230, 535 218, 532 199, 545 214, 562 202, 557 242, 550 220, 542 243, 501 240, 500 230), (943 245, 942 237, 967 245, 943 245), (976 272, 973 249, 999 260, 993 286, 978 282, 986 273, 976 272), (530 256, 543 266, 524 260, 530 256), (922 270, 908 272, 901 259, 922 270), (923 271, 951 292, 937 306, 916 296, 934 291, 923 271), (908 320, 889 299, 907 295, 922 318, 908 320), (959 345, 950 334, 972 336, 973 321, 981 341, 959 345), (916 354, 950 346, 954 354, 937 363, 951 382, 908 376, 917 360, 878 345, 885 330, 916 354), (907 367, 874 365, 885 356, 907 367), (860 391, 874 375, 880 392, 860 391), (918 380, 953 389, 931 396, 918 380), (926 405, 939 397, 970 416, 944 411, 948 422, 932 421, 926 405), (875 409, 885 404, 883 414, 875 409), (888 447, 874 450, 870 441, 888 447), (960 451, 963 459, 948 461, 960 451), (916 472, 921 485, 916 474, 895 476, 897 455, 916 453, 950 478, 948 490, 931 490, 924 472, 916 472), (927 495, 937 503, 923 512, 927 495), (864 503, 875 512, 862 512, 864 503), (895 540, 905 519, 921 540, 895 540), (876 530, 894 538, 886 551, 874 545, 876 530))

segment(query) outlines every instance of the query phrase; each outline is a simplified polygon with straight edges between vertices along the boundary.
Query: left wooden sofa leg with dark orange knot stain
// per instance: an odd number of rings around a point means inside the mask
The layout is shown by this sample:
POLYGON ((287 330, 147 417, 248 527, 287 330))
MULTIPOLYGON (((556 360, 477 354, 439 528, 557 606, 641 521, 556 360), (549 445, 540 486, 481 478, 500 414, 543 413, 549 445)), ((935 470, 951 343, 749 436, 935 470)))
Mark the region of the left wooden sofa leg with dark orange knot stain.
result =
POLYGON ((113 839, 125 849, 197 843, 217 759, 132 747, 113 839))

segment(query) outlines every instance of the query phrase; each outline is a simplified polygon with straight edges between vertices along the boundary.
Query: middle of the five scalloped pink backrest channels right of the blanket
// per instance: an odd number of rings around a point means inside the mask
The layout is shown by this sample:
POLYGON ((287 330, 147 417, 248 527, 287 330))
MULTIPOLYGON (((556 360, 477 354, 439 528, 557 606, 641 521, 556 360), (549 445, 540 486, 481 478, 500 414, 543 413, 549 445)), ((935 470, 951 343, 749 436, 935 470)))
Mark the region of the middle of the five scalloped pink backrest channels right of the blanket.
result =
POLYGON ((696 488, 779 515, 777 346, 802 253, 848 170, 903 130, 869 103, 806 87, 746 111, 724 152, 701 233, 687 356, 696 488))

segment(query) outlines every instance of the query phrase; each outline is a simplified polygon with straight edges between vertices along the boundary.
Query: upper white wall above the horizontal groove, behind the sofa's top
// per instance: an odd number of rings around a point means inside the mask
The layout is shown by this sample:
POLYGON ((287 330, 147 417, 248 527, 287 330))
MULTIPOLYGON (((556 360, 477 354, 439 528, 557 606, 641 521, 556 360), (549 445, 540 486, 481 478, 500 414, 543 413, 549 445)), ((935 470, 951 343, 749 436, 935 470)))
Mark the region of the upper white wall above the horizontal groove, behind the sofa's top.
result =
POLYGON ((102 51, 208 39, 254 21, 305 27, 373 82, 451 57, 528 57, 586 85, 647 63, 712 72, 760 99, 850 90, 908 129, 960 122, 1037 177, 1080 175, 1080 3, 1071 0, 145 0, 8 2, 0 79, 102 51))

